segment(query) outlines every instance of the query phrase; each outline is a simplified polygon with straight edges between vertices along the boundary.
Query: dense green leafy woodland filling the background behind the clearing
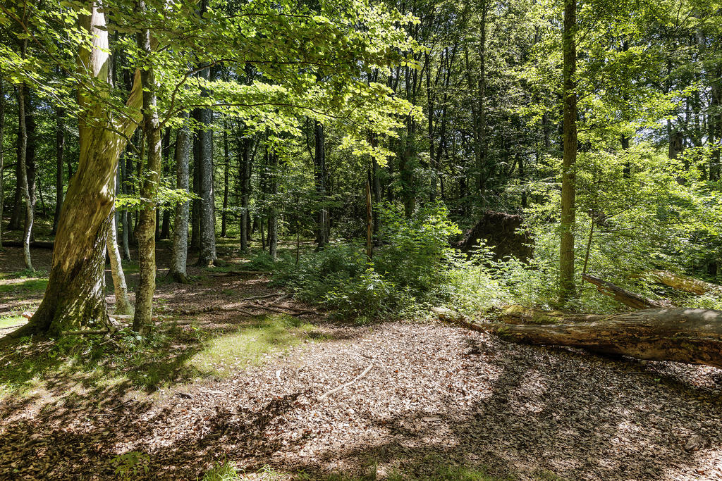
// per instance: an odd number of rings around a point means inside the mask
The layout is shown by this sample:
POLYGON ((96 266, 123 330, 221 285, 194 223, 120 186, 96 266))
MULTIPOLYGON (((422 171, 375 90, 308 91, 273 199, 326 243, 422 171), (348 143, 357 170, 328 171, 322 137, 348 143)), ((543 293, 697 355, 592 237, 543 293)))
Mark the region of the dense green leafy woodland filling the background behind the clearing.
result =
MULTIPOLYGON (((342 314, 556 304, 564 2, 143 3, 155 16, 141 3, 104 5, 107 92, 76 66, 92 40, 77 26, 84 4, 0 9, 3 232, 22 229, 23 175, 35 216, 57 224, 56 203, 78 169, 78 89, 130 115, 123 99, 135 69, 155 69, 162 169, 149 200, 140 128, 118 167, 126 257, 147 202, 157 203, 155 237, 165 239, 178 228, 174 209, 191 198, 191 251, 204 256, 204 232, 234 237, 242 252, 269 252, 277 282, 300 299, 342 314), (136 43, 145 30, 149 51, 136 43), (186 161, 184 128, 194 142, 186 161), (189 192, 178 159, 189 163, 189 192), (487 211, 524 217, 531 259, 451 248, 487 211), (276 263, 279 239, 313 239, 317 249, 276 263)), ((650 269, 719 281, 721 5, 583 1, 570 35, 578 99, 570 306, 619 308, 583 286, 583 273, 651 297, 669 292, 640 275, 650 269)))

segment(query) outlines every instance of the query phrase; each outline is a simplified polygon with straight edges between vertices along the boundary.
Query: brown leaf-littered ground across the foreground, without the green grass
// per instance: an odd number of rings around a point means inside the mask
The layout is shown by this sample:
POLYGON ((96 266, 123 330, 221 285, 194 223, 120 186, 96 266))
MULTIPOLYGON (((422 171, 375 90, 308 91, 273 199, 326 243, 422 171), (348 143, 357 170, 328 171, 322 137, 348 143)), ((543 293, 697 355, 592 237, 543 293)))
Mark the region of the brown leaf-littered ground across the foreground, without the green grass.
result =
MULTIPOLYGON (((219 278, 159 298, 212 304, 235 283, 239 296, 267 289, 219 278)), ((141 451, 148 472, 134 479, 194 480, 222 460, 310 479, 376 464, 383 479, 443 459, 521 480, 722 480, 720 370, 509 345, 448 325, 318 325, 324 340, 224 381, 87 394, 102 407, 0 405, 0 479, 113 479, 110 459, 141 451)))

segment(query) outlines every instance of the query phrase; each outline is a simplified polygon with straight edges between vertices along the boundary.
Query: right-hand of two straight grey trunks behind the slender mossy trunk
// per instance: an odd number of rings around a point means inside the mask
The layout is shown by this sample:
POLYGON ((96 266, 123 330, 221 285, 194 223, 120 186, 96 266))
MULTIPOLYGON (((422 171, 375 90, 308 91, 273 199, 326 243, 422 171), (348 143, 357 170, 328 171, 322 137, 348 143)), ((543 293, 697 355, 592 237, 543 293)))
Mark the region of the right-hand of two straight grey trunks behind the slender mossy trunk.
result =
MULTIPOLYGON (((206 80, 211 79, 210 67, 200 72, 199 76, 206 80)), ((204 95, 207 95, 204 92, 204 95)), ((213 112, 210 109, 199 111, 199 121, 203 125, 198 132, 199 154, 200 154, 200 226, 201 226, 201 253, 198 258, 198 265, 209 267, 216 260, 216 231, 215 231, 215 209, 213 189, 213 112)))

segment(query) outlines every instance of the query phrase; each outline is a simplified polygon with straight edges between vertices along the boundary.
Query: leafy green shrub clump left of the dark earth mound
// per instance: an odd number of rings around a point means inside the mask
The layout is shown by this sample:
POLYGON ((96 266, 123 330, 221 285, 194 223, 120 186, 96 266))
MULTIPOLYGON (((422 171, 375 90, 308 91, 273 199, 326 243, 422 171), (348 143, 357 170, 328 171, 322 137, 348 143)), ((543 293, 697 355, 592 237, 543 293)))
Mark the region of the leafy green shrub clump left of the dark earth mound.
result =
POLYGON ((274 283, 295 291, 303 301, 320 302, 337 314, 356 319, 404 314, 415 316, 430 305, 451 305, 478 312, 507 294, 478 254, 471 260, 449 239, 459 233, 440 204, 406 218, 400 208, 379 210, 380 247, 368 260, 362 244, 332 243, 320 252, 286 263, 274 283))

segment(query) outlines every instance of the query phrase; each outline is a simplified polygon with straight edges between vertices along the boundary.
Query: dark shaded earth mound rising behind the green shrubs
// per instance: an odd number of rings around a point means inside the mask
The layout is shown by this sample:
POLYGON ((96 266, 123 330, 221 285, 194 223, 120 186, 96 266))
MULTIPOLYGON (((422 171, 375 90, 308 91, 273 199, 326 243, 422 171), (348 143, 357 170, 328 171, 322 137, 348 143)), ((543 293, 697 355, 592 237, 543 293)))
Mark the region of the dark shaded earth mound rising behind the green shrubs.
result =
POLYGON ((464 239, 456 247, 469 252, 479 247, 478 239, 483 239, 491 247, 495 260, 514 256, 526 261, 534 254, 529 233, 520 229, 522 216, 504 212, 487 211, 477 225, 464 232, 464 239))

